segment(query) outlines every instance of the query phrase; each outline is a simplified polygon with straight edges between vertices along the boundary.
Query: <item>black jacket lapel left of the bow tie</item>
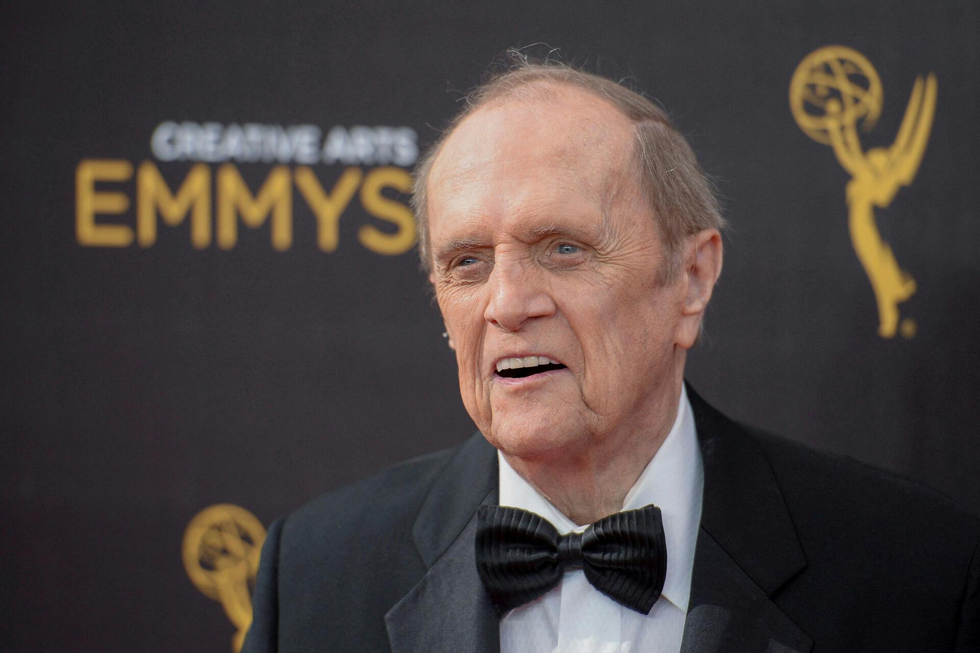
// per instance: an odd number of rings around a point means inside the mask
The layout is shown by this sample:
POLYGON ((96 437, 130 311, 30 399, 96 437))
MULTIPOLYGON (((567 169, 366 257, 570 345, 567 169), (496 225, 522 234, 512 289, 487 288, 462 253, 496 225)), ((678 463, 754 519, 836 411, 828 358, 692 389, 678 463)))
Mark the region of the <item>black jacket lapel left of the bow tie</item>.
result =
POLYGON ((477 434, 433 484, 413 537, 428 568, 385 615, 393 653, 500 650, 497 613, 476 572, 476 508, 497 503, 497 455, 477 434))

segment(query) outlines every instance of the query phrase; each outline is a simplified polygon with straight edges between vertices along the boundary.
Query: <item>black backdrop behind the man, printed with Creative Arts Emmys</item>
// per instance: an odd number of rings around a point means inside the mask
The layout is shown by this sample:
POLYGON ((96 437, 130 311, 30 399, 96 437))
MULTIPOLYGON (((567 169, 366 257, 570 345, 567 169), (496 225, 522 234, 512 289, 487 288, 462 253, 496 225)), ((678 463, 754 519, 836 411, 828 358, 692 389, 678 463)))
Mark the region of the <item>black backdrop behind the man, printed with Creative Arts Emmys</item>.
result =
POLYGON ((181 562, 199 510, 228 502, 268 525, 324 490, 466 438, 455 363, 416 257, 372 251, 363 228, 406 237, 404 208, 390 202, 406 201, 396 182, 414 141, 396 157, 392 134, 430 142, 495 57, 542 41, 660 99, 718 182, 733 228, 708 337, 689 363, 699 392, 737 419, 978 510, 976 3, 615 6, 0 10, 0 648, 229 650, 233 627, 181 562), (861 134, 865 148, 894 141, 917 75, 938 80, 921 167, 876 210, 917 282, 900 304, 916 326, 909 337, 878 335, 848 232, 850 175, 790 112, 797 65, 833 44, 858 50, 881 77, 883 111, 861 134), (150 162, 176 192, 195 161, 155 152, 151 138, 168 122, 185 135, 214 122, 224 136, 254 123, 273 134, 262 138, 280 138, 251 150, 239 140, 230 170, 197 141, 197 160, 213 160, 202 163, 215 184, 205 198, 212 225, 216 203, 245 197, 220 200, 221 174, 237 172, 258 194, 284 169, 292 189, 270 197, 291 201, 288 249, 270 242, 272 218, 239 224, 234 247, 214 228, 195 247, 189 218, 161 221, 152 245, 99 244, 105 225, 132 238, 137 173, 109 181, 99 175, 112 164, 85 162, 114 161, 123 173, 150 162), (335 137, 337 149, 304 163, 310 153, 281 140, 300 132, 335 137), (325 192, 350 167, 387 175, 381 190, 353 195, 332 252, 296 185, 304 166, 325 192), (86 170, 94 185, 78 182, 86 170), (122 193, 128 208, 96 199, 90 224, 79 213, 93 192, 122 193))

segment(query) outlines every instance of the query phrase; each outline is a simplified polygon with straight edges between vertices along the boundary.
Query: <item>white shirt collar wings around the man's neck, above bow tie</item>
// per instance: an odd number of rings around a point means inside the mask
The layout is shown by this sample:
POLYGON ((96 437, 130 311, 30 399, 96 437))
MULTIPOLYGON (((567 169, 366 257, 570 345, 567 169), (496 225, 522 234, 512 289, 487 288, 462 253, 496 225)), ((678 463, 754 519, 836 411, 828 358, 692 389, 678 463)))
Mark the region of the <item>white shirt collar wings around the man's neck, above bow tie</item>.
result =
MULTIPOLYGON (((524 480, 500 451, 500 504, 523 508, 541 515, 559 533, 580 531, 544 496, 524 480)), ((661 509, 666 540, 667 571, 662 595, 687 612, 694 569, 694 547, 701 523, 701 501, 705 471, 694 426, 694 413, 681 385, 677 416, 657 453, 633 487, 626 492, 622 509, 632 510, 653 503, 661 509)))

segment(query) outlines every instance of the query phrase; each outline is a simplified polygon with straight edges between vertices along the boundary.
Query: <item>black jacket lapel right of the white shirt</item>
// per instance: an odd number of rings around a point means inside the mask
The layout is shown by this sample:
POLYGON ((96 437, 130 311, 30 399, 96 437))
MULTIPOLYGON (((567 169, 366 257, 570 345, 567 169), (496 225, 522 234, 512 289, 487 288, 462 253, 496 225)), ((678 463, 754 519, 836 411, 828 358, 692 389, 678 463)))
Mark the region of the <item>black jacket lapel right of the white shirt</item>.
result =
POLYGON ((771 596, 807 566, 760 446, 690 386, 705 493, 682 653, 807 653, 812 640, 771 596))

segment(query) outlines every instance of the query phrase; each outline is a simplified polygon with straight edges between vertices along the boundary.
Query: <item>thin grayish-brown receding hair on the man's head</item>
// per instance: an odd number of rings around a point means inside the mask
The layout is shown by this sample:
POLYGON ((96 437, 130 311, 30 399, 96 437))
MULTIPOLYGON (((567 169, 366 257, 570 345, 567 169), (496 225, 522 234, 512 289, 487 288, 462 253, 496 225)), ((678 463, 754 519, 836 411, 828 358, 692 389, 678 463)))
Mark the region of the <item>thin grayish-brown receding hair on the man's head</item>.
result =
POLYGON ((711 179, 702 170, 687 140, 653 102, 619 82, 598 74, 568 67, 562 62, 532 60, 517 50, 508 52, 509 62, 490 74, 466 94, 466 104, 453 117, 439 139, 419 158, 414 173, 412 208, 416 214, 418 255, 422 269, 431 271, 428 241, 426 188, 432 163, 449 135, 466 117, 489 104, 515 96, 529 85, 565 85, 585 90, 613 105, 633 124, 634 152, 639 164, 640 185, 657 216, 666 266, 662 279, 679 271, 684 242, 704 229, 722 229, 721 215, 711 179))

